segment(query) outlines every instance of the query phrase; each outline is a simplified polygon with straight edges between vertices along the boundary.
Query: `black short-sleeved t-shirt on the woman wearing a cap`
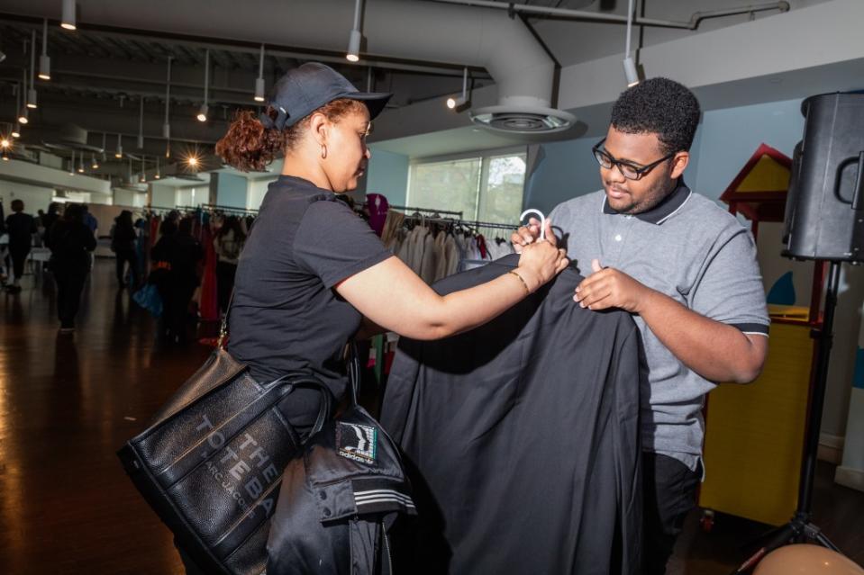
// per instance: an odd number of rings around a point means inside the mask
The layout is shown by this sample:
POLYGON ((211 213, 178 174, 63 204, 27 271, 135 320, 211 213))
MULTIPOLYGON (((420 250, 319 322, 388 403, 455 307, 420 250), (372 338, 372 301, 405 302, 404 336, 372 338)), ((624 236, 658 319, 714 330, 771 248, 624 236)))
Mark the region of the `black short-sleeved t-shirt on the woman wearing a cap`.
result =
MULTIPOLYGON (((234 283, 229 352, 259 382, 311 373, 339 398, 341 351, 361 315, 333 286, 391 254, 336 195, 293 176, 270 184, 234 283)), ((303 400, 292 411, 316 409, 303 400)), ((314 415, 314 414, 313 414, 314 415)))

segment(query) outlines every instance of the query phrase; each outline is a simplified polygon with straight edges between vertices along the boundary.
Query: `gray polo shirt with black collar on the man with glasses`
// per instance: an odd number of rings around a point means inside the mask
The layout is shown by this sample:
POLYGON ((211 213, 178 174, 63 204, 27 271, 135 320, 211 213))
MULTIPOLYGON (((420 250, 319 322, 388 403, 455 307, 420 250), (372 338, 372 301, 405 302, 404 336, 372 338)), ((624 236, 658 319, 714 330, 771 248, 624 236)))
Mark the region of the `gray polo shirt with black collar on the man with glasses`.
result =
MULTIPOLYGON (((583 275, 591 260, 614 267, 688 309, 744 333, 768 335, 756 245, 728 211, 683 182, 657 207, 619 214, 603 190, 559 204, 550 219, 583 275)), ((705 393, 716 387, 688 369, 634 316, 647 381, 640 384, 642 449, 691 470, 702 454, 705 393)))

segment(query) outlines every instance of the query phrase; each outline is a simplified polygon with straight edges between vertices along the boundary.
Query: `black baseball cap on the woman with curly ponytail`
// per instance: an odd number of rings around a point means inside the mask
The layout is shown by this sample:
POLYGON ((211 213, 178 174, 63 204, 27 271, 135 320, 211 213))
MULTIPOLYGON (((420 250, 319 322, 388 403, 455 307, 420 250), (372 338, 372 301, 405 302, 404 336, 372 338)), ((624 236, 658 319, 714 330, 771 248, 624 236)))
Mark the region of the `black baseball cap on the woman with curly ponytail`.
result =
POLYGON ((277 118, 261 114, 267 128, 284 130, 333 100, 348 98, 365 103, 369 119, 375 118, 393 94, 359 92, 345 76, 320 62, 306 62, 277 80, 270 90, 268 105, 278 112, 277 118))

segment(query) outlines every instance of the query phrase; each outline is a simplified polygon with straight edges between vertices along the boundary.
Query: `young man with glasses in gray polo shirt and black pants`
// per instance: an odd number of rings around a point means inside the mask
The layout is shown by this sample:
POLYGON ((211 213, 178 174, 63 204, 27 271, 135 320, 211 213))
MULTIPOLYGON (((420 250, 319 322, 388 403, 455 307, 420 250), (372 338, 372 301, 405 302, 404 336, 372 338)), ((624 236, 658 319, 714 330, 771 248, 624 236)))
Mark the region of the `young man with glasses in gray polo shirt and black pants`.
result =
MULTIPOLYGON (((666 571, 695 504, 705 393, 717 382, 753 381, 768 351, 753 238, 684 183, 699 113, 696 96, 666 78, 628 89, 594 148, 604 189, 550 213, 587 276, 574 300, 590 310, 628 310, 640 330, 648 575, 666 571)), ((532 220, 514 233, 517 251, 539 231, 532 220)))

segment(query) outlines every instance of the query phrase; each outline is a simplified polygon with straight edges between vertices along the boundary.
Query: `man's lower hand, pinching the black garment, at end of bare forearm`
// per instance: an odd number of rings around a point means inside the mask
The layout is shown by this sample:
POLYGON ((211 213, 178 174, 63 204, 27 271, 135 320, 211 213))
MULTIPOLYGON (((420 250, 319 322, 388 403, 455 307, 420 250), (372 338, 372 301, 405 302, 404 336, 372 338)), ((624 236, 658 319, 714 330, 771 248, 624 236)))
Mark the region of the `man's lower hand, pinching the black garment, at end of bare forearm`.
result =
POLYGON ((649 287, 611 267, 601 267, 596 259, 591 260, 592 274, 582 280, 576 288, 574 301, 588 310, 618 308, 631 313, 640 313, 651 294, 649 287))

